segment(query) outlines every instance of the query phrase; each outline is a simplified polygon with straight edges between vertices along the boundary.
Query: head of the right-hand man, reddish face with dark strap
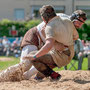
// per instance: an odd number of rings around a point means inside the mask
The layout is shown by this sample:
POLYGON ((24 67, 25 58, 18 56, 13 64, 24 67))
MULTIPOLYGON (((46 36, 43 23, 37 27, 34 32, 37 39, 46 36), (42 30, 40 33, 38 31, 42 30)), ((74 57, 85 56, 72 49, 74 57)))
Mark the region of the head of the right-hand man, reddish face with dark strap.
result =
POLYGON ((84 22, 86 21, 87 19, 87 16, 86 16, 86 13, 82 10, 76 10, 72 15, 71 15, 71 18, 70 18, 73 23, 74 23, 74 26, 76 28, 81 28, 81 26, 84 24, 84 22))

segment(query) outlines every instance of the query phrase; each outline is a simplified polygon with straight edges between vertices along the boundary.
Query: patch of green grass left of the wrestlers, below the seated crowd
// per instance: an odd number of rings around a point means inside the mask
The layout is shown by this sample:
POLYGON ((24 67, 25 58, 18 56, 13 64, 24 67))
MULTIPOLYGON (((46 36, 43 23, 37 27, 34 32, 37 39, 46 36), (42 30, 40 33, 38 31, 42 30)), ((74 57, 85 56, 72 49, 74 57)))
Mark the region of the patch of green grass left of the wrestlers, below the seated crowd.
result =
MULTIPOLYGON (((4 56, 2 56, 4 57, 4 56)), ((1 58, 1 56, 0 56, 1 58)), ((11 61, 0 61, 0 70, 4 70, 9 66, 15 65, 17 63, 19 63, 19 58, 15 58, 15 57, 10 57, 12 60, 11 61)))

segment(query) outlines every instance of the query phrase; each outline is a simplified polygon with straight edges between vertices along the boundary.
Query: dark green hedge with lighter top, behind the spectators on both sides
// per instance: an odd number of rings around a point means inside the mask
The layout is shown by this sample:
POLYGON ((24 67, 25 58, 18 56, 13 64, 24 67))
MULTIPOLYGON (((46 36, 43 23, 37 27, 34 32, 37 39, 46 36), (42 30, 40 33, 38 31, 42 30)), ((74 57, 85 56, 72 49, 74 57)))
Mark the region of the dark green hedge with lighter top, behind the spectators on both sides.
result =
MULTIPOLYGON (((31 29, 34 26, 37 26, 41 21, 40 20, 30 20, 26 21, 10 21, 8 19, 4 19, 0 21, 0 37, 7 36, 12 37, 9 32, 12 30, 12 26, 14 25, 16 30, 18 31, 18 37, 24 36, 26 31, 31 29)), ((90 41, 90 21, 87 21, 82 28, 78 29, 79 37, 83 40, 90 41)))

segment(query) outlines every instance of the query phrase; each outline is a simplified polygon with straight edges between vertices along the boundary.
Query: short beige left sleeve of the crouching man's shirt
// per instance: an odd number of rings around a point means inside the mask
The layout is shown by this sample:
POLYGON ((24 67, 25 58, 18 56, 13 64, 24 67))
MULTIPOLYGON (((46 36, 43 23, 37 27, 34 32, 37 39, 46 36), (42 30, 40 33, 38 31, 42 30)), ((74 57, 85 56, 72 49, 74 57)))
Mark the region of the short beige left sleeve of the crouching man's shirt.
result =
POLYGON ((46 35, 46 39, 54 38, 55 32, 54 32, 53 26, 50 26, 50 25, 46 26, 46 28, 45 28, 45 35, 46 35))

